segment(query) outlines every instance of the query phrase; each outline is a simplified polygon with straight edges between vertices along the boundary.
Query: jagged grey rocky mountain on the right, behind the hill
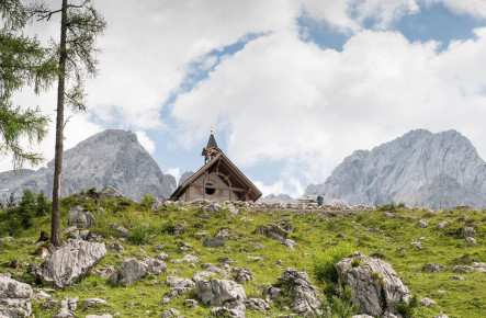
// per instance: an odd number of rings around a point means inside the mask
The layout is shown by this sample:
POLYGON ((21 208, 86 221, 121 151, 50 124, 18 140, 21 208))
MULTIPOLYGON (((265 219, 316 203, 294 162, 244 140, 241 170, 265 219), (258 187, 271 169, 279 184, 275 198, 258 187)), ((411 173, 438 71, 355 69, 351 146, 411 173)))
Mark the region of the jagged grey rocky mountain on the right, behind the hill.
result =
POLYGON ((486 163, 460 133, 418 129, 371 151, 354 151, 305 193, 352 205, 395 200, 431 208, 485 207, 486 163))

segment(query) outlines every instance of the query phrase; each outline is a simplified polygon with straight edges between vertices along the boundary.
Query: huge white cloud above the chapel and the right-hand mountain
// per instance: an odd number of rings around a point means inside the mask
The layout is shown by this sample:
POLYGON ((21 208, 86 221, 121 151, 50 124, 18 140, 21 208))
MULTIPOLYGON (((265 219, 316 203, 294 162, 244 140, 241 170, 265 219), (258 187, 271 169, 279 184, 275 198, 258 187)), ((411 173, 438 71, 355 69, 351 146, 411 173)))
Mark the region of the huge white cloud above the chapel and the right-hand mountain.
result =
MULTIPOLYGON (((360 32, 341 53, 292 33, 262 36, 179 96, 172 115, 184 127, 180 143, 199 143, 217 123, 229 132, 236 164, 284 158, 286 177, 308 182, 323 182, 355 149, 419 127, 459 129, 485 158, 475 132, 486 134, 486 29, 476 34, 441 53, 434 42, 392 32, 360 32)), ((293 191, 270 188, 281 186, 293 191)))

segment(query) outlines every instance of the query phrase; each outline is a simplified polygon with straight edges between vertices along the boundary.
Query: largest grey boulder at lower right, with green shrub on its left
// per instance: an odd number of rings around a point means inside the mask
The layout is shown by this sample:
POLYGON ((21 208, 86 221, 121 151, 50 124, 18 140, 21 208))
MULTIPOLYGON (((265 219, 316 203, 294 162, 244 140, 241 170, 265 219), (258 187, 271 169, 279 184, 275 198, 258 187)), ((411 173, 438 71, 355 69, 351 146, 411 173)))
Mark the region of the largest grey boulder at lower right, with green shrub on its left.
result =
POLYGON ((341 283, 354 291, 353 302, 360 304, 359 314, 396 314, 396 305, 410 299, 407 286, 392 266, 380 259, 354 252, 338 262, 336 269, 341 283), (358 266, 353 266, 355 259, 360 261, 358 266))

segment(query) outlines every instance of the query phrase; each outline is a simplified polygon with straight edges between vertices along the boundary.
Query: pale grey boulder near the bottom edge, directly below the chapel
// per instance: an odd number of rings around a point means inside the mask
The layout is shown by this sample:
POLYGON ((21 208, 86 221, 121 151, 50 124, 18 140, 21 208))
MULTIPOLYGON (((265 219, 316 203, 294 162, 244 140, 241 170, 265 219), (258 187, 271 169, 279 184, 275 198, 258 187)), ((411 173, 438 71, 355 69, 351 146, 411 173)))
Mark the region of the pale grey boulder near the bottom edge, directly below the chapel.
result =
POLYGON ((195 282, 195 295, 204 305, 221 306, 228 302, 245 300, 247 295, 241 285, 226 280, 212 279, 195 282))

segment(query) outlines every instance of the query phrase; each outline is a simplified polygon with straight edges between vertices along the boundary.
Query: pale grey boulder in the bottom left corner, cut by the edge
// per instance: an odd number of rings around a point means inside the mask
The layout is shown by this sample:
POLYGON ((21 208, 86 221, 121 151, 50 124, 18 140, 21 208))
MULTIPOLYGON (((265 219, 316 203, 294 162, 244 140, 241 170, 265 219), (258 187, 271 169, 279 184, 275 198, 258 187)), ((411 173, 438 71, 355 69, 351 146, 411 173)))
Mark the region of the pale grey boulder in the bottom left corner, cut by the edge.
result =
POLYGON ((0 317, 27 317, 32 314, 30 285, 0 275, 0 317))

